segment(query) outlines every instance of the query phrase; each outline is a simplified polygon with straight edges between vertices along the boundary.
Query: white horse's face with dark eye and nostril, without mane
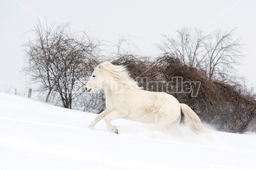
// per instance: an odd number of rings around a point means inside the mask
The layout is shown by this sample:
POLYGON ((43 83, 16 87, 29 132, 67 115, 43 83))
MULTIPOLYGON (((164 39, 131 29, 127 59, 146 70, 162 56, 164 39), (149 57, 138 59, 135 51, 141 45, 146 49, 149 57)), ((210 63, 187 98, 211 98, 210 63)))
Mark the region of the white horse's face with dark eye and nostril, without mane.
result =
POLYGON ((102 66, 99 64, 94 68, 93 74, 85 85, 85 90, 88 92, 95 92, 102 88, 104 77, 102 74, 102 66))

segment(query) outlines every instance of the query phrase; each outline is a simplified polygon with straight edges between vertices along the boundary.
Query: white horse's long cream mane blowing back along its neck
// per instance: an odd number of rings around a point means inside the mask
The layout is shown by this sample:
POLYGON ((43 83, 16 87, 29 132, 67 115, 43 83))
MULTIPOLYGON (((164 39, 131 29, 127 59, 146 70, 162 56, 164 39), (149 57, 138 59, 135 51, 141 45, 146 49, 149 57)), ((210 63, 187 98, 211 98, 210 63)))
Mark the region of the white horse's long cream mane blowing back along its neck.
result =
POLYGON ((137 82, 131 79, 127 68, 123 65, 113 65, 110 62, 102 62, 96 68, 107 71, 108 74, 122 87, 132 86, 136 89, 141 89, 137 82))

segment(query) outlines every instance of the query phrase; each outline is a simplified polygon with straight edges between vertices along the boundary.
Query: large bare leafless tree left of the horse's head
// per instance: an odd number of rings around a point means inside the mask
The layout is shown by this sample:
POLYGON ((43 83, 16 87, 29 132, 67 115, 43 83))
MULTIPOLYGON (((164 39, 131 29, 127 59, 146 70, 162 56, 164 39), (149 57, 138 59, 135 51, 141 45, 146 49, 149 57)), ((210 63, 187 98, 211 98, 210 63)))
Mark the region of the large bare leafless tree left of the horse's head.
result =
POLYGON ((97 64, 99 41, 85 32, 72 34, 70 23, 54 28, 42 26, 40 21, 32 30, 36 38, 25 46, 26 62, 23 70, 38 91, 47 91, 48 102, 52 91, 64 108, 72 108, 72 101, 83 92, 83 83, 97 64), (57 96, 56 96, 57 94, 57 96))

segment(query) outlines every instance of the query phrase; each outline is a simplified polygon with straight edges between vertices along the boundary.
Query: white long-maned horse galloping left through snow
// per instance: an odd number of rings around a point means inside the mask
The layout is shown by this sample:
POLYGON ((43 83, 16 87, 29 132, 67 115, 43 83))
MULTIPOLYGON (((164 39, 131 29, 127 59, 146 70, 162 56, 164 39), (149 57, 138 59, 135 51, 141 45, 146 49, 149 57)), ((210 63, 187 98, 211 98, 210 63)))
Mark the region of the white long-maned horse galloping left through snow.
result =
POLYGON ((93 71, 85 86, 88 92, 104 89, 106 110, 96 116, 89 125, 91 129, 105 119, 108 130, 117 133, 114 119, 125 118, 139 122, 154 123, 158 131, 169 125, 178 126, 180 109, 185 116, 185 125, 193 132, 206 130, 198 116, 188 105, 180 104, 174 96, 163 92, 144 91, 132 80, 124 66, 102 62, 93 71))

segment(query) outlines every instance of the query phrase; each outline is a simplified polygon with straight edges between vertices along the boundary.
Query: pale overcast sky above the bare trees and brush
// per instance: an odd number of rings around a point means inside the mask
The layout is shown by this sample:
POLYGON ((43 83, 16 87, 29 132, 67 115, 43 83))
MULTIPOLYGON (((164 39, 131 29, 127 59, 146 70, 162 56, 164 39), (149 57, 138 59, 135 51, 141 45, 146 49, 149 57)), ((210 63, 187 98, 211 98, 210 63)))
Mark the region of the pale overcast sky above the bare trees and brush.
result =
POLYGON ((184 26, 209 34, 216 28, 237 28, 246 56, 238 67, 248 86, 256 86, 255 0, 1 0, 0 90, 9 86, 28 88, 23 67, 23 45, 32 40, 26 33, 41 20, 56 25, 72 21, 72 31, 87 29, 98 40, 117 43, 129 35, 144 54, 156 55, 161 34, 175 37, 184 26), (25 34, 26 33, 26 34, 25 34))

